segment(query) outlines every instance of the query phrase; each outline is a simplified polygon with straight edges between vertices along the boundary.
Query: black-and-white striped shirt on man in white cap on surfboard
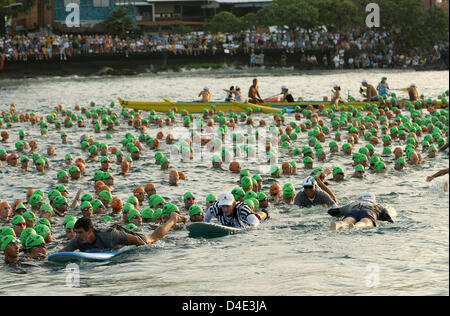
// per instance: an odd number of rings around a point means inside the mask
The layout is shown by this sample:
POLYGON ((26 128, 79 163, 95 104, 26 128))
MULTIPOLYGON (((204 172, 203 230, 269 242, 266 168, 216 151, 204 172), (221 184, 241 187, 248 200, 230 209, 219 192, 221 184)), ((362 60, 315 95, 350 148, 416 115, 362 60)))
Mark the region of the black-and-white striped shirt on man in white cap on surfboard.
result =
POLYGON ((248 228, 256 227, 259 224, 259 219, 256 215, 242 202, 236 202, 232 216, 225 216, 222 208, 219 206, 219 202, 215 202, 206 212, 205 222, 209 223, 212 216, 217 218, 220 225, 228 227, 248 228))

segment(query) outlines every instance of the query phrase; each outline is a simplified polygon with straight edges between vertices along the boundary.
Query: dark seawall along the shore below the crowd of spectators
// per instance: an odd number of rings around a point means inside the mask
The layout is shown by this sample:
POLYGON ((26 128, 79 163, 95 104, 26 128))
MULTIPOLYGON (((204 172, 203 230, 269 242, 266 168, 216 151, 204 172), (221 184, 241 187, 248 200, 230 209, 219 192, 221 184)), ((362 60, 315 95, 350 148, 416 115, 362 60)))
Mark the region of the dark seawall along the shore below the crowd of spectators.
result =
MULTIPOLYGON (((301 53, 286 55, 286 61, 281 62, 281 50, 271 49, 264 51, 265 68, 294 68, 295 70, 336 70, 333 65, 313 65, 301 63, 301 53)), ((324 55, 330 56, 330 51, 313 51, 320 58, 324 55)), ((319 58, 318 58, 319 59, 319 58)), ((320 59, 319 59, 320 60, 320 59)), ((329 59, 330 60, 330 59, 329 59)), ((68 76, 102 76, 102 75, 137 75, 142 73, 158 73, 164 71, 180 72, 191 69, 220 69, 234 67, 236 69, 251 69, 250 56, 243 52, 230 55, 217 51, 212 55, 207 53, 199 56, 175 55, 172 52, 157 53, 133 53, 129 57, 117 54, 90 54, 76 55, 61 61, 58 57, 49 60, 32 61, 6 61, 4 69, 0 70, 2 79, 25 79, 37 77, 68 77, 68 76)), ((255 66, 256 69, 262 66, 255 66)), ((364 70, 395 70, 396 68, 364 68, 364 70)), ((344 68, 343 70, 361 70, 344 68)), ((440 71, 449 70, 445 62, 434 65, 425 65, 416 68, 398 68, 398 70, 415 71, 440 71)))

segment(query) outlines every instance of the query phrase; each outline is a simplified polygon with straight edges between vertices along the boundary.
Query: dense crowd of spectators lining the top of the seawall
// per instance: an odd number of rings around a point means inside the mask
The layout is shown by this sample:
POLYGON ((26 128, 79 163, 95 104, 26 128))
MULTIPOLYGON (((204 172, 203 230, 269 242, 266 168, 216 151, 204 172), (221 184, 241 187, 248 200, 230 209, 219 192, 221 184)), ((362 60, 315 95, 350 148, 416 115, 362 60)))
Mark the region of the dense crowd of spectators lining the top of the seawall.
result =
MULTIPOLYGON (((280 49, 281 63, 286 55, 300 53, 302 64, 335 69, 411 68, 448 59, 448 42, 436 43, 430 51, 404 49, 396 31, 241 32, 187 35, 118 37, 111 35, 6 36, 0 38, 0 54, 8 61, 59 59, 76 55, 121 54, 167 51, 200 56, 218 51, 230 55, 255 56, 267 49, 280 49), (403 53, 407 51, 407 53, 403 53)), ((448 61, 447 61, 448 63, 448 61)))

